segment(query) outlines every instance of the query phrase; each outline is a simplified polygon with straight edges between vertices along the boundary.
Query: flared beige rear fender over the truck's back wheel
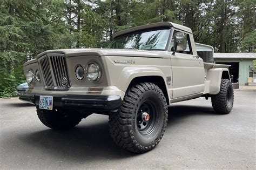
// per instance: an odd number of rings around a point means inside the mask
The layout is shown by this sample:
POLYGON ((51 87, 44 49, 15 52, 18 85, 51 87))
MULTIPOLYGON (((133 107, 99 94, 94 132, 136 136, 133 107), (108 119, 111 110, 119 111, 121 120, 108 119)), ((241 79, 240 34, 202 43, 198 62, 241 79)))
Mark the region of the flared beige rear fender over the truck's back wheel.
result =
POLYGON ((210 92, 209 94, 218 94, 220 91, 220 83, 223 76, 223 72, 228 72, 228 79, 230 79, 230 73, 227 68, 209 69, 207 71, 206 80, 210 80, 210 92))

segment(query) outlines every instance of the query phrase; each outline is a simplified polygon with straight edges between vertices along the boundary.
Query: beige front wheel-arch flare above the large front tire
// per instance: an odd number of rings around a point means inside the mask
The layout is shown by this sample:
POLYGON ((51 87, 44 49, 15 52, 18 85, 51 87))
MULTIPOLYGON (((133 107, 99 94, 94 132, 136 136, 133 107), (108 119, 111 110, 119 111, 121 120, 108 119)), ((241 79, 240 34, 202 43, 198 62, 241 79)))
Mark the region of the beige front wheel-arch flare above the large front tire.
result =
MULTIPOLYGON (((143 76, 160 76, 165 80, 164 73, 156 67, 128 66, 121 71, 117 87, 120 90, 126 91, 132 79, 143 76)), ((166 81, 165 86, 167 87, 166 81)))

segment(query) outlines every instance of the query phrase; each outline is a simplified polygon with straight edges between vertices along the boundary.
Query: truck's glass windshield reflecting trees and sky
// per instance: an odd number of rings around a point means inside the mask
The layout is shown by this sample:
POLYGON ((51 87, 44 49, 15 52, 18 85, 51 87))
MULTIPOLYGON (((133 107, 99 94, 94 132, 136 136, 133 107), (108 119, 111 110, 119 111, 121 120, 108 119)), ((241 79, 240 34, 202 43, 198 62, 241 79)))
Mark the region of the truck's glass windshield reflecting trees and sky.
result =
POLYGON ((138 49, 138 50, 165 50, 169 29, 134 32, 129 35, 115 38, 109 49, 138 49))

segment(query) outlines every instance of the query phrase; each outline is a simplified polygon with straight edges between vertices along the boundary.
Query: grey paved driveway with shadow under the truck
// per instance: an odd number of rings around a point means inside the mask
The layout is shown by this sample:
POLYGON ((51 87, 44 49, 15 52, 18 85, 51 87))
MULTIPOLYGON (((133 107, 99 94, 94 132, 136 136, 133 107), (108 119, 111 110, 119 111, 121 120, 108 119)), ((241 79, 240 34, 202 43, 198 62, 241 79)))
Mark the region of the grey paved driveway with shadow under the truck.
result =
POLYGON ((159 145, 134 154, 112 141, 106 115, 53 131, 35 107, 0 99, 1 169, 256 169, 256 90, 235 90, 233 111, 214 113, 211 100, 172 104, 159 145))

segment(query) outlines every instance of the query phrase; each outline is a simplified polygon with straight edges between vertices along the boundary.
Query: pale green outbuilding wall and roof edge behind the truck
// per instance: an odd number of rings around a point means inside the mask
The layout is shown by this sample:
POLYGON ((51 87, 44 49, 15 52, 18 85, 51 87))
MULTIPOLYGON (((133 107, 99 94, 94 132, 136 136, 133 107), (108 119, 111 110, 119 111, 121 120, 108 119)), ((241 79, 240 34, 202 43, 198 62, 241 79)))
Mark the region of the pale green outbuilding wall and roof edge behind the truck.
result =
POLYGON ((232 59, 232 58, 214 58, 214 62, 239 62, 239 84, 245 85, 249 77, 249 66, 254 59, 232 59))

